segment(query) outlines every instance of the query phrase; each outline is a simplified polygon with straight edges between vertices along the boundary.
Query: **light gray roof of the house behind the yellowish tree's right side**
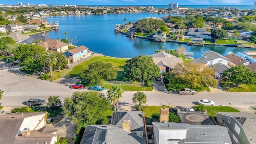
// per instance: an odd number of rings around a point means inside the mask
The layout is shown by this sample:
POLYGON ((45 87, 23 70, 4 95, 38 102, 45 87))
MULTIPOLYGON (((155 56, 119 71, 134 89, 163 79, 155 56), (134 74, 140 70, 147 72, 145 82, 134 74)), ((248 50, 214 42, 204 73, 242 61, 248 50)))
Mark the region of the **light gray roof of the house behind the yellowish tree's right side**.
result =
POLYGON ((223 58, 225 60, 228 60, 228 58, 225 58, 221 54, 218 54, 217 52, 214 52, 212 50, 208 50, 207 52, 203 52, 203 55, 204 56, 202 56, 200 58, 196 58, 196 59, 192 60, 191 62, 196 62, 196 63, 199 63, 199 64, 207 64, 208 61, 215 60, 217 58, 223 58))

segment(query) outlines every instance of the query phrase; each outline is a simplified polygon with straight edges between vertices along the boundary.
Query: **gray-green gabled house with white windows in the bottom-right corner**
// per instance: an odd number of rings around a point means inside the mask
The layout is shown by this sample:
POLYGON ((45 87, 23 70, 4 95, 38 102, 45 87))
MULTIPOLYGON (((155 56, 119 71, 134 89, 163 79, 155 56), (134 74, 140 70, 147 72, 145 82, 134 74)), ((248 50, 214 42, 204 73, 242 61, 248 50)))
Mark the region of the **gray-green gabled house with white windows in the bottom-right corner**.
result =
POLYGON ((256 114, 217 112, 217 123, 227 128, 233 144, 256 144, 256 114))

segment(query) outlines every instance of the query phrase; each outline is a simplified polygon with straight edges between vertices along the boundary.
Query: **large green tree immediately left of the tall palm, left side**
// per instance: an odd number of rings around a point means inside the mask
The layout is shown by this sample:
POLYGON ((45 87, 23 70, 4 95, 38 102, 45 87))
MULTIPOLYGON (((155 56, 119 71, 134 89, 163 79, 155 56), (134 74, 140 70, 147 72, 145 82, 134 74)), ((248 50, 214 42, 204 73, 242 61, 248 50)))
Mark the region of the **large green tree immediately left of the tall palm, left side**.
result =
POLYGON ((13 50, 15 58, 20 61, 21 70, 28 72, 38 72, 43 68, 41 57, 45 54, 45 48, 36 44, 20 44, 18 48, 13 50))

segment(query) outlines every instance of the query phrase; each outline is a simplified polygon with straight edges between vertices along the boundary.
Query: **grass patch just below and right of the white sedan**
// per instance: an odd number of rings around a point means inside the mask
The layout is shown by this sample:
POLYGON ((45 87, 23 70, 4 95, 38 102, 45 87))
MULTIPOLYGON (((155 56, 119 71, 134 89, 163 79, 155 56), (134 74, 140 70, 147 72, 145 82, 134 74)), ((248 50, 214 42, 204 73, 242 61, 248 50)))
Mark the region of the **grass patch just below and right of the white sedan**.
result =
POLYGON ((229 106, 205 106, 208 116, 217 116, 217 112, 240 112, 229 106))

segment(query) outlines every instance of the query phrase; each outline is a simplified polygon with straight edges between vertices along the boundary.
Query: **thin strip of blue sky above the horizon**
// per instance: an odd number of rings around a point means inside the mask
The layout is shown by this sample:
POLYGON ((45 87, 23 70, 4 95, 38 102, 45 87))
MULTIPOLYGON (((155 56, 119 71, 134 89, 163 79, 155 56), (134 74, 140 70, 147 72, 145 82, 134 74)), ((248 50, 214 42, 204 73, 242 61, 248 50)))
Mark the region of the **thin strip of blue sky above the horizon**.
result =
POLYGON ((76 5, 253 5, 254 0, 0 0, 0 4, 76 4, 76 5))

